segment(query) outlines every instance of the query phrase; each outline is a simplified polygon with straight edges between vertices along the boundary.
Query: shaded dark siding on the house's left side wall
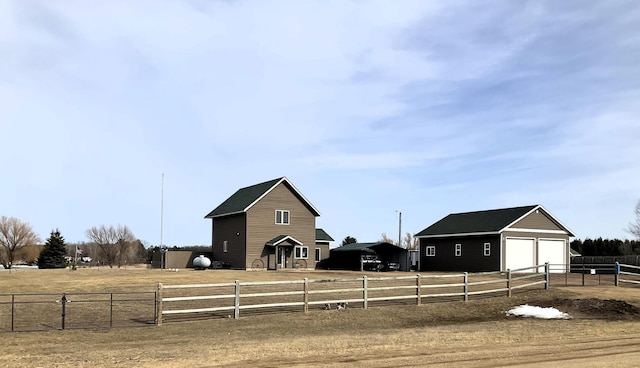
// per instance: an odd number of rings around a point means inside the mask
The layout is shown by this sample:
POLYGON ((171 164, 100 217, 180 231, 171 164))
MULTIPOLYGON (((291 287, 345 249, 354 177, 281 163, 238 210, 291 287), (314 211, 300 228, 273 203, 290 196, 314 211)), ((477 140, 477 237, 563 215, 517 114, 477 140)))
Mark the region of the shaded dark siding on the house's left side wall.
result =
POLYGON ((247 268, 245 263, 245 214, 231 215, 213 219, 213 260, 229 262, 231 268, 247 268), (227 241, 224 252, 223 243, 227 241))

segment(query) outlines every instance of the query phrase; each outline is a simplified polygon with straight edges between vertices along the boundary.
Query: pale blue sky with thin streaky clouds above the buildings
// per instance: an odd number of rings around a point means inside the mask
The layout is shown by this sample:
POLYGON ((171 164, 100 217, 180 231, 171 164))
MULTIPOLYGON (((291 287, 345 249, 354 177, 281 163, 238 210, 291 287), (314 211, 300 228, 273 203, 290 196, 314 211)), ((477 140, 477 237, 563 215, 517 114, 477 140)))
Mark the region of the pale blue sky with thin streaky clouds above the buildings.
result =
POLYGON ((334 246, 533 204, 632 238, 634 0, 0 0, 0 55, 0 215, 42 239, 208 245, 282 176, 334 246))

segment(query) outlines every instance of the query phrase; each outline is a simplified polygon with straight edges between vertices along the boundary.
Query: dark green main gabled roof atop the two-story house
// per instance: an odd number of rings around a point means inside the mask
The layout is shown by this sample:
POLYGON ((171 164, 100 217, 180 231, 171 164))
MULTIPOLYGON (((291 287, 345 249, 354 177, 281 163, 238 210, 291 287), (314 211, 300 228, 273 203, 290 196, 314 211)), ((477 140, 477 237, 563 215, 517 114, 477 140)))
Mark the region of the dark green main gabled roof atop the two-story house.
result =
POLYGON ((254 204, 269 194, 280 183, 285 183, 295 195, 309 208, 315 215, 320 216, 320 212, 291 184, 286 177, 265 181, 264 183, 240 188, 231 197, 227 198, 213 211, 209 212, 205 218, 227 216, 236 213, 247 212, 254 204))

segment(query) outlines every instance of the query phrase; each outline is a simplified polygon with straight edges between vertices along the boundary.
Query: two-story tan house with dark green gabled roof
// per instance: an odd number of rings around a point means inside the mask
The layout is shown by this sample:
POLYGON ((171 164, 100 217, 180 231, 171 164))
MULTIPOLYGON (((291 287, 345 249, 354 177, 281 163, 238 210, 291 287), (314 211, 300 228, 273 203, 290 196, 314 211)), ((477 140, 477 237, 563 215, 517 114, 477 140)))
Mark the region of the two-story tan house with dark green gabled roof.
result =
POLYGON ((329 256, 318 216, 286 177, 241 188, 205 216, 212 220, 213 258, 235 269, 315 268, 329 256))

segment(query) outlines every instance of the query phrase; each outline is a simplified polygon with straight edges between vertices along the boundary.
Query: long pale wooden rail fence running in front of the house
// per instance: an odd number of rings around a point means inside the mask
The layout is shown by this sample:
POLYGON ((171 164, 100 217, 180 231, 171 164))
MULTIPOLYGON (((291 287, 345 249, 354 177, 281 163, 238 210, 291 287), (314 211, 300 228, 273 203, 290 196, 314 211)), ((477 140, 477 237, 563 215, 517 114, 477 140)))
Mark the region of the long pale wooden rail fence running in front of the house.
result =
POLYGON ((527 267, 507 272, 459 273, 399 277, 368 277, 267 282, 240 282, 196 285, 158 284, 158 326, 163 317, 188 314, 225 313, 240 317, 242 310, 267 310, 282 307, 310 307, 351 303, 368 308, 372 302, 405 301, 420 305, 431 299, 467 301, 471 296, 511 297, 512 291, 549 287, 549 265, 527 267), (473 281, 472 281, 473 279, 473 281), (331 287, 331 288, 329 288, 331 287), (203 290, 205 295, 189 295, 203 290), (247 291, 244 291, 247 290, 247 291), (176 296, 170 296, 171 292, 176 296), (241 292, 242 291, 242 292, 241 292))

